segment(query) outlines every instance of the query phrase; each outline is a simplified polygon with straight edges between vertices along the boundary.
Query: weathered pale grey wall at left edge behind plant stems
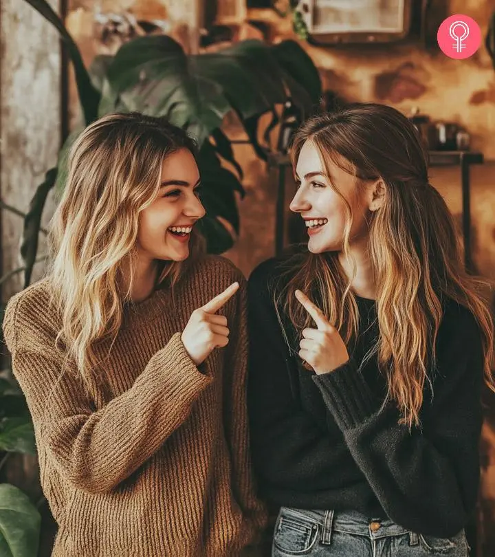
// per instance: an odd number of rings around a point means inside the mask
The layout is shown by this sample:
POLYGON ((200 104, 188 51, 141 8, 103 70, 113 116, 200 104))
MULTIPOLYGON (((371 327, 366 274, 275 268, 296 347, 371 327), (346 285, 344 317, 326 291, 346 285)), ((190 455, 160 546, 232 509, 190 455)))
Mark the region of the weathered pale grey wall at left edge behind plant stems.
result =
MULTIPOLYGON (((58 0, 50 5, 58 10, 58 0)), ((28 3, 1 3, 1 198, 25 212, 45 172, 56 164, 60 148, 61 55, 58 33, 28 3)), ((43 224, 53 212, 50 197, 43 224)), ((3 211, 3 272, 21 265, 19 242, 22 219, 3 211)), ((45 250, 42 241, 40 253, 45 250)), ((36 265, 34 279, 43 265, 36 265)), ((17 274, 2 285, 3 301, 23 285, 17 274)))

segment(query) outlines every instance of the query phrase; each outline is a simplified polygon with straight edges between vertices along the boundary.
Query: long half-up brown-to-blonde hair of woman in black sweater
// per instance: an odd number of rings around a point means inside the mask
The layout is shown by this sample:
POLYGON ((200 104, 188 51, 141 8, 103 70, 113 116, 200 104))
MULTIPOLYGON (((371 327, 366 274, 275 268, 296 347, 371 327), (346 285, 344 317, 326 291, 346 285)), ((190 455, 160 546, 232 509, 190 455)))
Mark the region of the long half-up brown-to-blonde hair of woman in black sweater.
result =
MULTIPOLYGON (((399 111, 373 103, 351 105, 303 124, 292 144, 292 165, 305 142, 311 141, 329 174, 333 162, 353 174, 357 187, 382 179, 384 205, 369 215, 369 254, 373 264, 380 336, 368 359, 377 354, 386 373, 388 398, 395 401, 409 427, 419 425, 423 386, 434 365, 434 346, 443 305, 451 299, 472 312, 480 329, 485 379, 494 389, 491 373, 493 320, 481 294, 486 281, 467 274, 452 215, 428 180, 428 152, 415 127, 399 111)), ((349 257, 351 206, 347 207, 344 255, 349 257)), ((311 317, 294 296, 307 292, 340 331, 346 344, 358 334, 359 314, 351 281, 338 252, 296 252, 283 263, 289 281, 274 292, 278 318, 288 316, 300 335, 312 327, 311 317)), ((355 268, 355 267, 354 267, 355 268)), ((297 339, 285 340, 291 347, 297 339)))

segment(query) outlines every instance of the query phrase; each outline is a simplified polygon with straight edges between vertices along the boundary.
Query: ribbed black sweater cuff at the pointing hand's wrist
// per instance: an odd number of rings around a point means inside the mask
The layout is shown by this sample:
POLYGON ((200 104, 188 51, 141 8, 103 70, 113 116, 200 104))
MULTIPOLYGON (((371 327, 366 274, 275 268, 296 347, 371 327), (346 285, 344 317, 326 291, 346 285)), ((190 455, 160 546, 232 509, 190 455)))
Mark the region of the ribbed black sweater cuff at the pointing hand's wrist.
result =
POLYGON ((342 431, 359 426, 382 406, 352 358, 329 373, 313 375, 313 380, 342 431))

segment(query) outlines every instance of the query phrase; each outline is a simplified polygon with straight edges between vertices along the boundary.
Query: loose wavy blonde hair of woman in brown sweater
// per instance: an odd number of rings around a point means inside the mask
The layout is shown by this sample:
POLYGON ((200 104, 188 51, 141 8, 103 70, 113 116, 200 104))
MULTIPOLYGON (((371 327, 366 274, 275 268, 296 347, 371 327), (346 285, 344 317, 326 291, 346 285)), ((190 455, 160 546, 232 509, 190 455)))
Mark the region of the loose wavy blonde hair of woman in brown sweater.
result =
MULTIPOLYGON (((69 153, 67 184, 50 223, 52 302, 62 316, 63 342, 83 381, 96 364, 94 344, 115 338, 130 301, 139 215, 159 191, 162 163, 196 144, 164 118, 113 113, 92 123, 69 153), (131 273, 123 291, 124 268, 131 273)), ((197 232, 189 260, 203 250, 197 232)), ((158 262, 158 283, 173 286, 184 266, 158 262)))

